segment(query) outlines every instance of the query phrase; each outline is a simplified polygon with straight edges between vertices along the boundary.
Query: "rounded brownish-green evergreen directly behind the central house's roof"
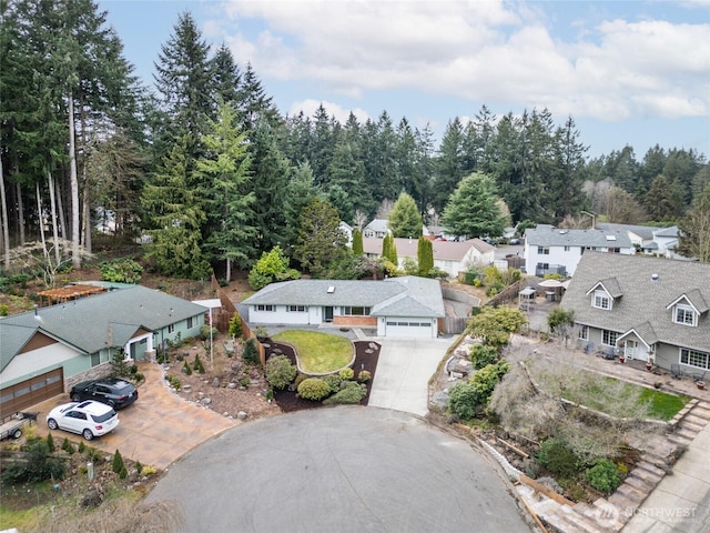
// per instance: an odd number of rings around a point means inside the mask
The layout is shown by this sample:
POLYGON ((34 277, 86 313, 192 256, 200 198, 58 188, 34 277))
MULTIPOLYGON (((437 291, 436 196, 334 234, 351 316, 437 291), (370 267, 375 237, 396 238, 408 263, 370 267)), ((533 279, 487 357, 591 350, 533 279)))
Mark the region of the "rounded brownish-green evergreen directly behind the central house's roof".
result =
POLYGON ((311 200, 301 214, 294 257, 315 276, 345 254, 346 238, 339 224, 335 208, 317 198, 311 200))

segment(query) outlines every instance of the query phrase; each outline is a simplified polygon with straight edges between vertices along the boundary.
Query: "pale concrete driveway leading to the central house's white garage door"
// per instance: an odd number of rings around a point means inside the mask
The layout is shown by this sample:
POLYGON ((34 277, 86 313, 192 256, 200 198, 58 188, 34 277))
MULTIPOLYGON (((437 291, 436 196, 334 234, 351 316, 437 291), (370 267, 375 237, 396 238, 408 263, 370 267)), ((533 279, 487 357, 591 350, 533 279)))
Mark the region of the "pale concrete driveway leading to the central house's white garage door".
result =
POLYGON ((426 415, 429 379, 444 359, 452 339, 377 341, 382 349, 367 405, 426 415))

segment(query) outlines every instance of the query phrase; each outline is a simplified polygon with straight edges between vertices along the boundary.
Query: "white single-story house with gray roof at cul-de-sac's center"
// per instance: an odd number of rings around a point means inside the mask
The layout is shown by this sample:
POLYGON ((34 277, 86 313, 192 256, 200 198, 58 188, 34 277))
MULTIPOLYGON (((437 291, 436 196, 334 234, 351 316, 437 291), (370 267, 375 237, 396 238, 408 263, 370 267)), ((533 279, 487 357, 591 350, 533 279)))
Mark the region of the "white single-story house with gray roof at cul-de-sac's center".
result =
POLYGON ((436 338, 444 318, 437 280, 292 280, 271 283, 241 305, 254 325, 372 328, 378 336, 436 338))

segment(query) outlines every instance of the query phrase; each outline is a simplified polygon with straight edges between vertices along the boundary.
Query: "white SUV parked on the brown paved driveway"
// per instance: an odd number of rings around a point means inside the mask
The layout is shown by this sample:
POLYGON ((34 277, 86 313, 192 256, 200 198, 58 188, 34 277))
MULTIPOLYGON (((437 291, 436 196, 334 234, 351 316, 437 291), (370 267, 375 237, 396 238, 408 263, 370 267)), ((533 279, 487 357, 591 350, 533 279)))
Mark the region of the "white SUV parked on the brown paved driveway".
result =
POLYGON ((94 436, 105 435, 115 430, 119 415, 105 403, 91 400, 71 402, 52 409, 47 415, 47 425, 50 430, 70 431, 91 441, 94 436))

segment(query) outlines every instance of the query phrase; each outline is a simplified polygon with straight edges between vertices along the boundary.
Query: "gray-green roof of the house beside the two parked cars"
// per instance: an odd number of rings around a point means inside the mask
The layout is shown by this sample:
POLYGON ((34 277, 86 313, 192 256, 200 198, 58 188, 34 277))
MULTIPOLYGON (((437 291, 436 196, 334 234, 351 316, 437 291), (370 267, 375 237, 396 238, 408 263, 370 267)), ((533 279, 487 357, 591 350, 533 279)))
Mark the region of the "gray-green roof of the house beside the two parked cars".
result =
POLYGON ((37 314, 30 311, 0 320, 0 366, 4 368, 37 331, 94 353, 125 344, 141 328, 155 331, 204 312, 202 305, 141 285, 39 308, 37 314))

